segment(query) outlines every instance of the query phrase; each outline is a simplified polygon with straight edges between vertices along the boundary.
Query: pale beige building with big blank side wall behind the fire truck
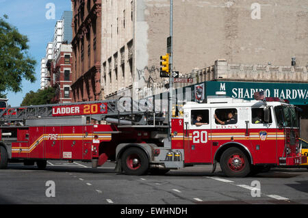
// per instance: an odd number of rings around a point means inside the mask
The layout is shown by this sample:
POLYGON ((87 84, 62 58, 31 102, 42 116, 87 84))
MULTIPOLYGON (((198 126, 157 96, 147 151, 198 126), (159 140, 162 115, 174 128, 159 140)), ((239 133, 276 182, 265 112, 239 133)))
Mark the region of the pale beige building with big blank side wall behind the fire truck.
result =
MULTIPOLYGON (((102 0, 103 99, 168 83, 159 77, 159 57, 166 53, 169 3, 102 0)), ((308 62, 307 1, 174 1, 173 14, 173 70, 181 74, 217 59, 275 66, 289 65, 292 57, 300 66, 308 62)))

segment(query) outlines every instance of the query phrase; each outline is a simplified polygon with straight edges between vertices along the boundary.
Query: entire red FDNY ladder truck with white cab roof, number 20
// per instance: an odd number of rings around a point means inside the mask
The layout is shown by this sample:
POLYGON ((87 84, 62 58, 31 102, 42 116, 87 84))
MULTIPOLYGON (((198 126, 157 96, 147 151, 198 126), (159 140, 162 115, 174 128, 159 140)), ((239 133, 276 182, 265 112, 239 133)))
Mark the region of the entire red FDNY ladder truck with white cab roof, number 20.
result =
POLYGON ((171 128, 165 113, 157 112, 162 106, 136 110, 142 107, 127 99, 4 109, 0 167, 23 162, 44 169, 53 159, 98 167, 110 160, 117 172, 142 175, 201 164, 213 165, 214 172, 220 163, 227 176, 244 177, 306 162, 296 108, 279 99, 214 96, 186 103, 171 128))

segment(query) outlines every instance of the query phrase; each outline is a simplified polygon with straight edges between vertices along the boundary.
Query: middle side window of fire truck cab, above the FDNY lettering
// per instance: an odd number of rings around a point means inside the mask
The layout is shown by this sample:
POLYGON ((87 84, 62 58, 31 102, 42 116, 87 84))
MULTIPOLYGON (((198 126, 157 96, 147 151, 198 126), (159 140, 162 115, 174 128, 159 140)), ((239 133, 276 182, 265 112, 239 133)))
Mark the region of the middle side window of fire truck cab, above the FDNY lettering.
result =
POLYGON ((238 111, 236 109, 216 109, 215 123, 229 125, 238 123, 238 111))

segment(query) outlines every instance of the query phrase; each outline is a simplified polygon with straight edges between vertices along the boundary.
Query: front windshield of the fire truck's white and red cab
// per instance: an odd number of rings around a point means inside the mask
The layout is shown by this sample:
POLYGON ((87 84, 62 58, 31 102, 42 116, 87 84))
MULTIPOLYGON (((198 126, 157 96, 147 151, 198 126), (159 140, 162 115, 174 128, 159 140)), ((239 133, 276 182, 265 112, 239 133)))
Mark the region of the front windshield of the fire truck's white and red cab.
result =
POLYGON ((275 107, 277 124, 285 127, 298 127, 298 119, 294 107, 277 106, 275 107))

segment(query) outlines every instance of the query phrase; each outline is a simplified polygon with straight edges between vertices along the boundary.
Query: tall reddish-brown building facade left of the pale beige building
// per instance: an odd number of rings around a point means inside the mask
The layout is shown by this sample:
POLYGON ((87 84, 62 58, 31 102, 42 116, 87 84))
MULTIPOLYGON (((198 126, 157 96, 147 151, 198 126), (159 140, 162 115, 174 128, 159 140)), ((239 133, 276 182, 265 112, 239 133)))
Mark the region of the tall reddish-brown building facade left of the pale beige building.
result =
POLYGON ((101 1, 72 0, 73 101, 101 95, 101 1))

